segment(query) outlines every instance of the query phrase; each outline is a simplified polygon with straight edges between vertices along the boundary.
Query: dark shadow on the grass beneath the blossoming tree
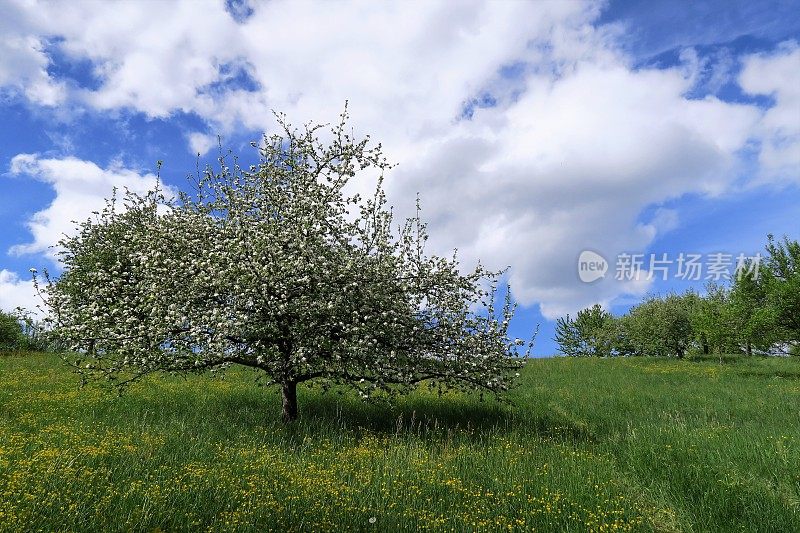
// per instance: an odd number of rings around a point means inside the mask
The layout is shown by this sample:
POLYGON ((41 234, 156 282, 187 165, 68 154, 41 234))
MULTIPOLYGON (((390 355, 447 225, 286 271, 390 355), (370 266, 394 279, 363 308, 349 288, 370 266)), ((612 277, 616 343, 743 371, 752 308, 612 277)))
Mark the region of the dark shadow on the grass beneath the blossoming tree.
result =
MULTIPOLYGON (((182 390, 137 394, 129 391, 125 418, 148 424, 177 426, 193 435, 229 438, 266 430, 293 446, 306 438, 360 438, 366 434, 396 436, 424 442, 459 439, 477 442, 514 434, 522 441, 580 444, 596 439, 586 424, 568 414, 535 409, 525 403, 480 401, 471 394, 415 392, 393 401, 363 402, 349 391, 299 391, 300 418, 280 420, 280 396, 274 388, 241 388, 213 395, 182 390)), ((109 406, 112 410, 115 408, 109 406)), ((120 413, 122 412, 120 411, 120 413)))

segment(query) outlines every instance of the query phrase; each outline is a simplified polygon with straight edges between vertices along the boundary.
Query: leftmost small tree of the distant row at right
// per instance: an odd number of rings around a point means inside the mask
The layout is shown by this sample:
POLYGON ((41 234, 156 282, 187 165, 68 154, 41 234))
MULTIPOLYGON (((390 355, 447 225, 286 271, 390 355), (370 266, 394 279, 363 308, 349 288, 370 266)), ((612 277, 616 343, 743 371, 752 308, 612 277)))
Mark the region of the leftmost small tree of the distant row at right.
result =
POLYGON ((616 355, 616 324, 614 316, 600 305, 578 311, 575 319, 556 321, 554 339, 561 353, 578 357, 609 357, 616 355))

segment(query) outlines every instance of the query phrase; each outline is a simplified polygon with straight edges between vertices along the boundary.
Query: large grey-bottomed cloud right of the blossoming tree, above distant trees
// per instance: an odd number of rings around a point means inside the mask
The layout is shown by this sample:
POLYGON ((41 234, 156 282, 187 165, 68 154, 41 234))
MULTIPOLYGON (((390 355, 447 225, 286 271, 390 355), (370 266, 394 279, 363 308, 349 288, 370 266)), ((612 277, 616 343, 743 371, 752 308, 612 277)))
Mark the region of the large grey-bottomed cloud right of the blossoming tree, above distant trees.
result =
POLYGON ((713 97, 688 100, 691 84, 680 68, 614 61, 532 77, 514 104, 477 111, 401 165, 395 196, 422 190, 436 244, 441 236, 470 260, 513 265, 517 296, 545 316, 641 293, 645 281, 581 284, 578 255, 643 251, 676 222, 660 211, 641 224, 645 207, 724 191, 759 118, 713 97))

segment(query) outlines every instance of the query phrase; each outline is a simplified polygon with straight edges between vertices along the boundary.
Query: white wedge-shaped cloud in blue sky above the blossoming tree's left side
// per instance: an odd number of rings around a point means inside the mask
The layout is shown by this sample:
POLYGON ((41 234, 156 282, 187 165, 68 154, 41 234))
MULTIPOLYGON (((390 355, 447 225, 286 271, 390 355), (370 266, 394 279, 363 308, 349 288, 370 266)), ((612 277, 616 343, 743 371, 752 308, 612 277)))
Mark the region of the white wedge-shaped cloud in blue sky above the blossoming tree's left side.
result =
POLYGON ((144 193, 156 184, 153 174, 140 175, 122 168, 102 169, 95 163, 74 157, 48 159, 37 154, 14 156, 10 173, 44 181, 56 193, 52 203, 28 221, 33 241, 12 247, 10 253, 45 253, 50 258, 55 258, 53 247, 61 237, 74 229, 73 221, 85 220, 92 211, 102 209, 115 187, 120 194, 126 188, 144 193))

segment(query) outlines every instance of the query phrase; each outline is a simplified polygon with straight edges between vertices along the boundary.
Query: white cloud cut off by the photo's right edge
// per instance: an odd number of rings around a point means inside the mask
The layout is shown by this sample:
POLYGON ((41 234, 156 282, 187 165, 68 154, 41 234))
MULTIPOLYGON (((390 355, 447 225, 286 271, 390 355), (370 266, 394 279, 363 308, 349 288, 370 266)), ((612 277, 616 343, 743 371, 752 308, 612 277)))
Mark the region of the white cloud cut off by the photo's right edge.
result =
POLYGON ((758 128, 762 178, 800 182, 800 46, 787 41, 772 54, 745 58, 739 84, 775 99, 758 128))

